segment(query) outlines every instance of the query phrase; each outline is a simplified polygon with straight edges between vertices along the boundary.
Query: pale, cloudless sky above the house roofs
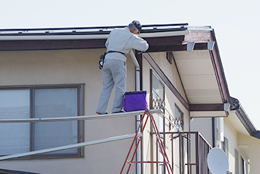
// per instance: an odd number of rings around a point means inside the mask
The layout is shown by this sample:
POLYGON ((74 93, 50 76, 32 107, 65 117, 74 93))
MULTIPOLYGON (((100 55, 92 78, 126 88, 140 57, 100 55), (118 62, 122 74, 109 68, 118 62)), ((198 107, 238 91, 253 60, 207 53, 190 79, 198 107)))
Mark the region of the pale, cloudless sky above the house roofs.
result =
POLYGON ((259 0, 0 0, 0 28, 189 23, 214 28, 229 93, 260 129, 259 0))

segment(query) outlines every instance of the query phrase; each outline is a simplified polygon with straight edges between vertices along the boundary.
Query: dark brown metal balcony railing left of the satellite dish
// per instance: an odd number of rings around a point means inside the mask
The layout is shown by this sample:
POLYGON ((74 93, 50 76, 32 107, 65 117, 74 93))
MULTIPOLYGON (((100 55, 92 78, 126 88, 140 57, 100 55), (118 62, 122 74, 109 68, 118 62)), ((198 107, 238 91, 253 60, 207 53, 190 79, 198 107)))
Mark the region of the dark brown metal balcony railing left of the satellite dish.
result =
MULTIPOLYGON (((212 146, 199 132, 160 132, 175 174, 211 174, 207 167, 207 154, 212 146)), ((156 149, 160 160, 159 148, 156 149)), ((165 166, 157 164, 154 173, 166 173, 165 166)))

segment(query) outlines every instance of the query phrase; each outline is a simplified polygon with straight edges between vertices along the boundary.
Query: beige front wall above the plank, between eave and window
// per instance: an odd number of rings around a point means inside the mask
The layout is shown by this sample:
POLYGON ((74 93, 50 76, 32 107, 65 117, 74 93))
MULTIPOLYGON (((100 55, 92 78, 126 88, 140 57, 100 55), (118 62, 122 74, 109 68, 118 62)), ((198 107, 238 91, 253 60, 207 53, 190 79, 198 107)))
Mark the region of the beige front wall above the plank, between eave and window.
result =
MULTIPOLYGON (((85 111, 95 114, 95 107, 89 104, 98 104, 102 89, 102 70, 98 68, 98 61, 104 52, 105 49, 1 51, 1 86, 84 83, 88 95, 85 111)), ((134 90, 135 69, 130 57, 127 65, 127 90, 134 90)), ((111 99, 113 96, 114 93, 111 99)), ((109 112, 111 108, 110 102, 109 112)))

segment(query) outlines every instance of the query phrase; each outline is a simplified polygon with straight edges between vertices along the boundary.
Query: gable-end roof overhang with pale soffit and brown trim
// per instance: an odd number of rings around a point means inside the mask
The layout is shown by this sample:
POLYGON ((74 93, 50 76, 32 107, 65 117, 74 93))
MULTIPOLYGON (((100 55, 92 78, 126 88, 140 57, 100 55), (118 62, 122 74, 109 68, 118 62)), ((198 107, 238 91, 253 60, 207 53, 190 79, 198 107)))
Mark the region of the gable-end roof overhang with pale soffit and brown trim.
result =
POLYGON ((228 116, 230 96, 217 40, 211 28, 191 28, 182 45, 173 51, 191 117, 228 116))

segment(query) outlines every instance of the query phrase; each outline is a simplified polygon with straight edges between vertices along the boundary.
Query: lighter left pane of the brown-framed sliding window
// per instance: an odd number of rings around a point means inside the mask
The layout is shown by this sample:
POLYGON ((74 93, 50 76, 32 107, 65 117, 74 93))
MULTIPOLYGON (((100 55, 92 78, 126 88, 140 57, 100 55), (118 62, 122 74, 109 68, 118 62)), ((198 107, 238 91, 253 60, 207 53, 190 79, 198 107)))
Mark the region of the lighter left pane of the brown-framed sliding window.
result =
MULTIPOLYGON (((28 89, 0 90, 0 118, 30 118, 30 91, 28 89)), ((29 123, 1 124, 0 156, 28 152, 30 150, 29 128, 29 123)))

